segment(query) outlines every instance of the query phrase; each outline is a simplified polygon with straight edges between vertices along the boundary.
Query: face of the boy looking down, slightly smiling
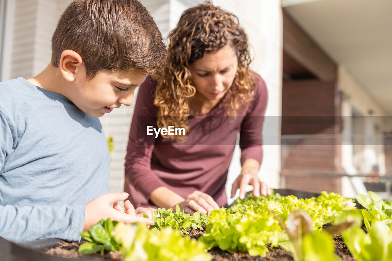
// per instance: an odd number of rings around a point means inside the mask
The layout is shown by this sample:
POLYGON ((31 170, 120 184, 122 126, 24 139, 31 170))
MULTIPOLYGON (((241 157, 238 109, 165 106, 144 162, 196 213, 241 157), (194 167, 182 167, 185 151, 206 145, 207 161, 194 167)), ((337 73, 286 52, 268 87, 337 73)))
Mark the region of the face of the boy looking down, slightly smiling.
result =
POLYGON ((100 117, 122 104, 131 105, 134 90, 145 78, 134 69, 119 72, 102 70, 91 80, 85 76, 77 78, 76 90, 68 98, 83 112, 100 117))

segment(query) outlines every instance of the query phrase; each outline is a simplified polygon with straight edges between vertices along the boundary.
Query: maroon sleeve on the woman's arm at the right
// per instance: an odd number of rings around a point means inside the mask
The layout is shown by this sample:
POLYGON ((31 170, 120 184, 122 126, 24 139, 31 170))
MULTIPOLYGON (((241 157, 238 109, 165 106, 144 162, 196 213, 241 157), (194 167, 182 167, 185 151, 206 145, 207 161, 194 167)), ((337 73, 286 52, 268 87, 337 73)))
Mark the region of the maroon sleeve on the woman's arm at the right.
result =
POLYGON ((262 133, 265 108, 267 107, 267 87, 263 79, 254 74, 254 97, 250 101, 249 109, 241 123, 240 148, 241 165, 246 159, 252 158, 259 161, 263 158, 262 133))

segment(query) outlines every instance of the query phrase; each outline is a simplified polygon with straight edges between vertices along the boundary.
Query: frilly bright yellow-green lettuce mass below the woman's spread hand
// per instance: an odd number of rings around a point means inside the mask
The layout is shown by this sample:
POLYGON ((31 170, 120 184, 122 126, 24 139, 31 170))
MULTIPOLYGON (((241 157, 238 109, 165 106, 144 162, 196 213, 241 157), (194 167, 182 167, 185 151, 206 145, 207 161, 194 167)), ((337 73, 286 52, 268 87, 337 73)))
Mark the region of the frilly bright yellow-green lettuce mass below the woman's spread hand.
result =
MULTIPOLYGON (((254 198, 252 194, 248 194, 245 199, 237 202, 241 204, 238 207, 234 205, 226 211, 221 208, 211 212, 207 232, 201 237, 208 249, 218 246, 228 252, 241 251, 249 252, 250 255, 265 256, 268 252, 266 243, 290 247, 287 246, 289 237, 284 232, 283 225, 279 225, 270 211, 287 226, 290 213, 301 209, 310 216, 311 230, 325 234, 320 229, 323 224, 331 222, 344 211, 355 208, 352 199, 327 192, 323 192, 318 198, 309 199, 298 199, 292 195, 254 198)), ((306 238, 308 237, 317 236, 309 235, 306 238)), ((320 238, 327 240, 323 235, 320 238)), ((314 246, 312 249, 317 247, 314 246)))

